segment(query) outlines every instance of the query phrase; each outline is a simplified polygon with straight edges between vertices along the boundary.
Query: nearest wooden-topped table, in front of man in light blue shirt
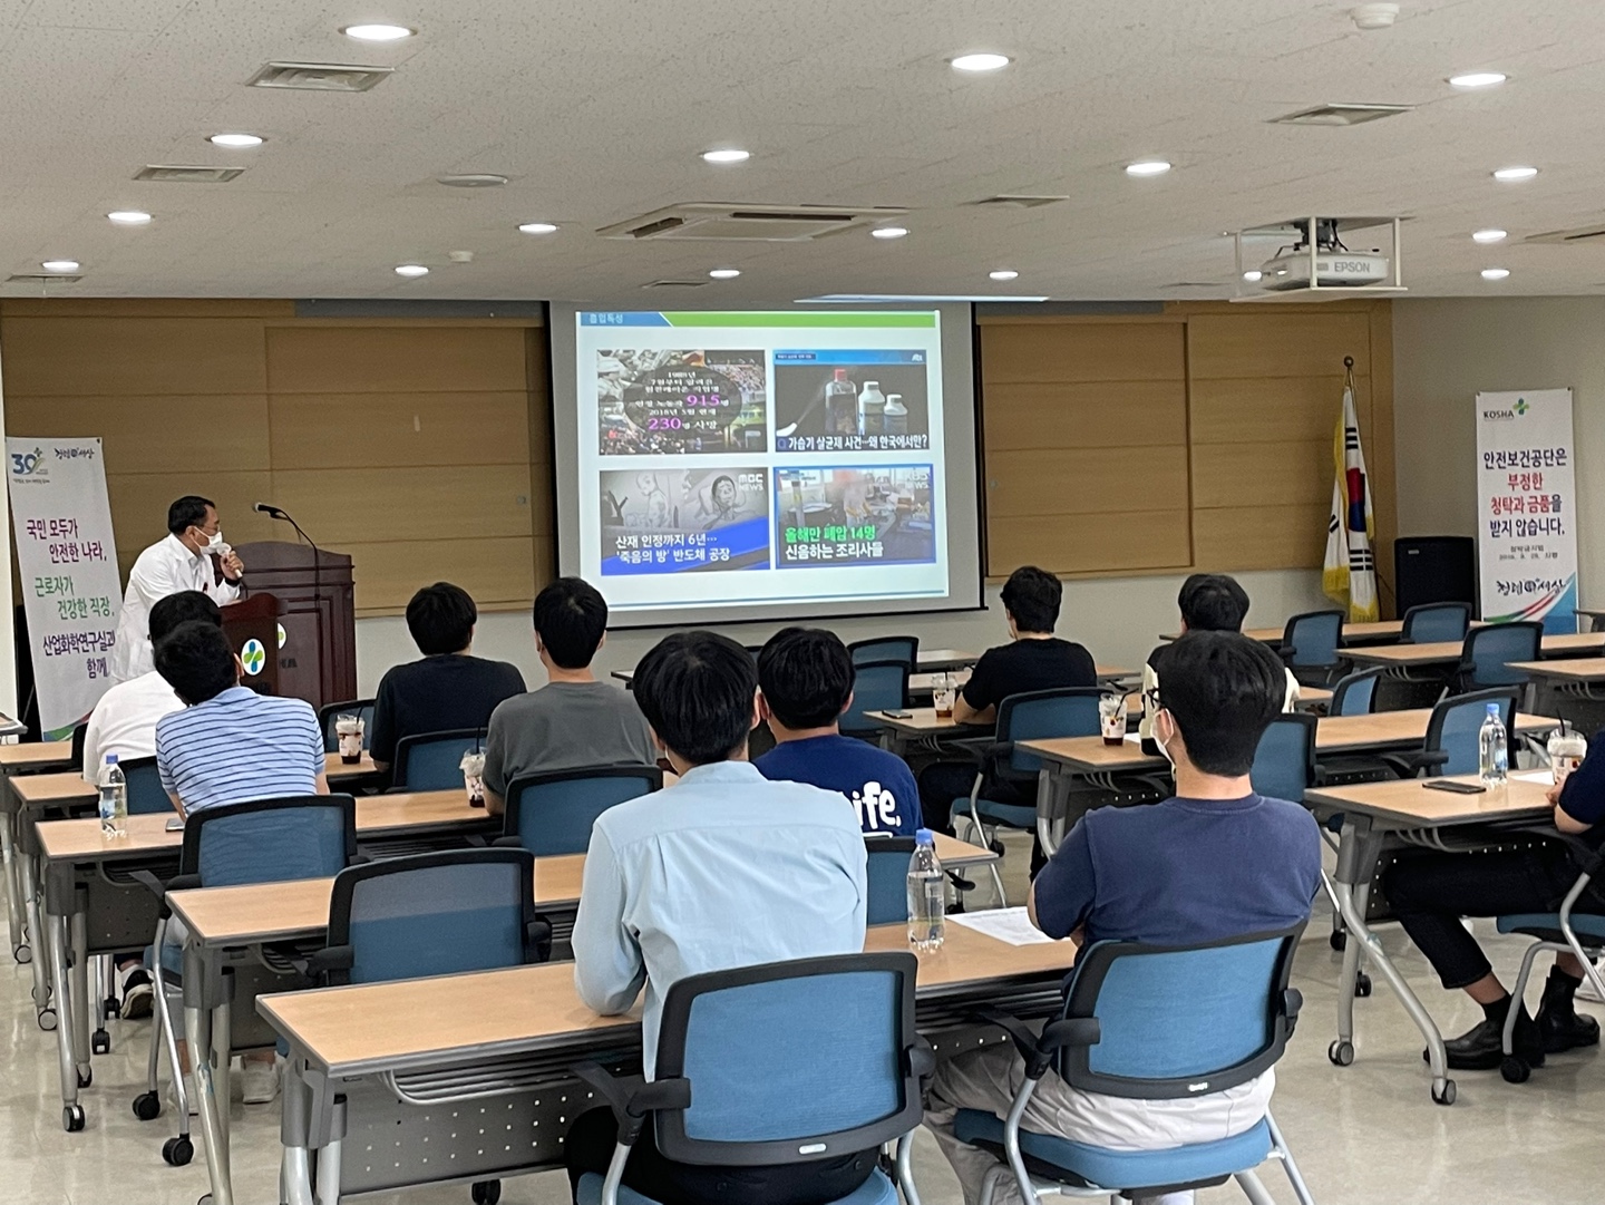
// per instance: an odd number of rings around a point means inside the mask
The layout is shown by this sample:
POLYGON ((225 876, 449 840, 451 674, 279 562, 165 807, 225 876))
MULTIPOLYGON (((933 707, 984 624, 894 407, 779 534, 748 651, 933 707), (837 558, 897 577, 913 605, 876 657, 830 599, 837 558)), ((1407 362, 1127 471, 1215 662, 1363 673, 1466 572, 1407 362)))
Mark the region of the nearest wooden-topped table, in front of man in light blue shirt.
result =
MULTIPOLYGON (((905 927, 872 929, 865 948, 905 950, 905 927)), ((1074 958, 1069 942, 1013 947, 950 924, 942 948, 920 955, 918 1025, 928 1037, 953 1033, 957 1043, 965 1012, 981 1003, 1048 1016, 1074 958)), ((318 1200, 560 1166, 563 1130, 584 1107, 570 1096, 567 1069, 603 1051, 628 1057, 640 1048, 639 1006, 597 1016, 579 1001, 567 966, 268 995, 257 998, 257 1009, 291 1045, 282 1125, 291 1200, 313 1199, 311 1150, 319 1152, 319 1171, 337 1168, 337 1184, 318 1200), (525 1138, 510 1152, 480 1138, 478 1126, 451 1122, 457 1101, 477 1112, 483 1093, 498 1093, 485 1102, 496 1126, 525 1138), (334 1123, 337 1094, 345 1097, 343 1134, 334 1123), (398 1144, 398 1134, 411 1141, 398 1144), (356 1152, 369 1141, 384 1142, 384 1160, 340 1158, 342 1146, 356 1152)), ((965 1030, 966 1048, 979 1045, 976 1032, 965 1030)))

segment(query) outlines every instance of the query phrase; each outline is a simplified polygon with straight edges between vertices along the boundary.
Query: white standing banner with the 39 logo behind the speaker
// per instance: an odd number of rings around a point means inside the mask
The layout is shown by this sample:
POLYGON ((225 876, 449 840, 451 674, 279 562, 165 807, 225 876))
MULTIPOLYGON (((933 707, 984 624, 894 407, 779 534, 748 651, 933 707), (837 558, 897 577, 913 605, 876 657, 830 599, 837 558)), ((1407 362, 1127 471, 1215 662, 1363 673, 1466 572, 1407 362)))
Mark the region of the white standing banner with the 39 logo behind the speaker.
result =
POLYGON ((111 685, 122 608, 100 440, 5 441, 39 727, 58 740, 111 685))

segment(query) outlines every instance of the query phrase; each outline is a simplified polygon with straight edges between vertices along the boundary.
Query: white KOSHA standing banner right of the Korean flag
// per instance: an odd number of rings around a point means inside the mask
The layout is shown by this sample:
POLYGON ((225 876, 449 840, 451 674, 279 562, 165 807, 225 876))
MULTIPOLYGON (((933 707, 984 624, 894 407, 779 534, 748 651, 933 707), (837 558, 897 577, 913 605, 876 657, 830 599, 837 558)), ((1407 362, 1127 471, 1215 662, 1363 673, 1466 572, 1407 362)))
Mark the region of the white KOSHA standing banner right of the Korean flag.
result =
POLYGON ((1477 395, 1483 619, 1578 631, 1571 390, 1477 395))

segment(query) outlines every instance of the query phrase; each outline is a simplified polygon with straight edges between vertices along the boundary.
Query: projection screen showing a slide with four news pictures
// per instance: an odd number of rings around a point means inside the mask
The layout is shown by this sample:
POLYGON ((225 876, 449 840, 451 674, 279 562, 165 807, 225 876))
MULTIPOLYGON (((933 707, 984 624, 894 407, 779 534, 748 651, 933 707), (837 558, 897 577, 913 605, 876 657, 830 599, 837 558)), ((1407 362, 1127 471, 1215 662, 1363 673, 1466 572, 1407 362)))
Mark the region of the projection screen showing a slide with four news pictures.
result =
POLYGON ((559 562, 618 626, 979 603, 968 306, 551 334, 559 562))

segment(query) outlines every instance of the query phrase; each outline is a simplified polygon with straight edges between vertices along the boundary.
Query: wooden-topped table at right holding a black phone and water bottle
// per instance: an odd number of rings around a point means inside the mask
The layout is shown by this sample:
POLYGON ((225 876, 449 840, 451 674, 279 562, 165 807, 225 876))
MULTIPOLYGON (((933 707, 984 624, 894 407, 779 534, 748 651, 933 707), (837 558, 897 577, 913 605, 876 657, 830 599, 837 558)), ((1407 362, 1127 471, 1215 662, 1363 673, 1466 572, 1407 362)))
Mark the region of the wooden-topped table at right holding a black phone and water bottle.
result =
MULTIPOLYGON (((1337 987, 1337 1040, 1327 1049, 1327 1057, 1339 1067, 1355 1059, 1355 979, 1359 972, 1359 955, 1375 966, 1398 996, 1411 1020, 1427 1040, 1427 1061, 1432 1070, 1432 1097, 1440 1104, 1454 1102, 1454 1080, 1448 1078, 1443 1053, 1443 1035, 1432 1016, 1393 966, 1382 943, 1366 926, 1366 905, 1371 899, 1371 882, 1384 844, 1417 839, 1436 844, 1446 830, 1509 828, 1518 825, 1547 823, 1554 809, 1546 799, 1549 775, 1534 775, 1542 781, 1530 781, 1526 775, 1512 775, 1510 781, 1485 794, 1451 794, 1427 786, 1430 781, 1406 778, 1388 783, 1358 783, 1353 786, 1318 786, 1305 793, 1305 805, 1316 817, 1342 815, 1337 870, 1329 881, 1339 913, 1348 929, 1343 947, 1343 974, 1337 987)), ((1473 775, 1451 781, 1477 783, 1473 775)))

